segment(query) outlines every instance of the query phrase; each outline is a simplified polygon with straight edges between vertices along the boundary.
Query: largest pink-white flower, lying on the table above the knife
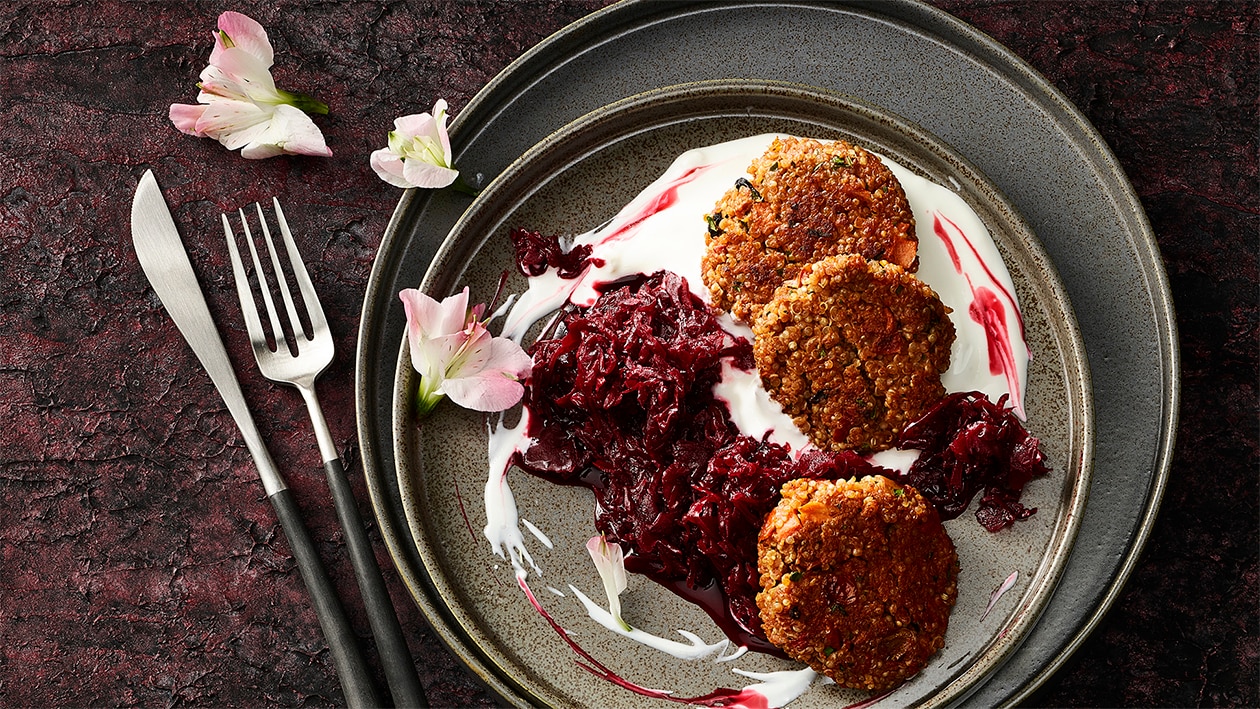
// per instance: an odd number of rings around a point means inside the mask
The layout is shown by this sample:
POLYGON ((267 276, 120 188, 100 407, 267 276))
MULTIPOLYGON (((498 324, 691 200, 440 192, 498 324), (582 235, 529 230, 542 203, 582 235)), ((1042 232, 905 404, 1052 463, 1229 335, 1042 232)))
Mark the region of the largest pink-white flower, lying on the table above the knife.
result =
POLYGON ((210 63, 197 84, 197 105, 173 103, 170 120, 188 135, 212 137, 242 157, 331 156, 310 113, 328 106, 276 88, 267 31, 241 13, 219 15, 210 63))

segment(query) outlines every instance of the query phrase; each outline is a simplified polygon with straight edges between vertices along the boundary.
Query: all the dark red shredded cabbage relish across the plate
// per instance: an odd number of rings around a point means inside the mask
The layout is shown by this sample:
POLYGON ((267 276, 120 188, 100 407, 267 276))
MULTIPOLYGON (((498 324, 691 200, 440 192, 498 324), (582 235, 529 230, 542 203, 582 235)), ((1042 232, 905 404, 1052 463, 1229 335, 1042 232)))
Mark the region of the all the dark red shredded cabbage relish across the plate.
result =
MULTIPOLYGON (((527 276, 549 267, 576 276, 587 257, 537 232, 517 229, 512 241, 527 276)), ((751 372, 752 346, 669 271, 602 286, 588 307, 567 306, 556 334, 529 351, 529 441, 513 462, 588 487, 595 526, 626 549, 626 568, 697 603, 750 650, 782 656, 761 631, 757 534, 789 480, 885 475, 919 489, 941 519, 984 490, 976 519, 997 531, 1036 511, 1019 495, 1048 471, 1004 399, 975 392, 946 395, 906 427, 900 446, 921 455, 905 474, 848 451, 793 457, 741 434, 713 384, 723 360, 751 372)))

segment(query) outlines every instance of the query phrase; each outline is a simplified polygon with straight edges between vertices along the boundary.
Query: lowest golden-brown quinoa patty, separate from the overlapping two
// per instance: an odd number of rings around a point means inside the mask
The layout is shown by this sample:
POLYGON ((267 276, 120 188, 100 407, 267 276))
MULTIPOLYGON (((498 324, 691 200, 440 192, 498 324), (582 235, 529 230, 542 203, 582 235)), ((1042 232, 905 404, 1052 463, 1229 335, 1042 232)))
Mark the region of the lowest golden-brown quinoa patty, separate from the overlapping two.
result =
POLYGON ((914 487, 788 482, 761 528, 757 570, 766 637, 840 686, 892 689, 945 646, 958 554, 914 487))

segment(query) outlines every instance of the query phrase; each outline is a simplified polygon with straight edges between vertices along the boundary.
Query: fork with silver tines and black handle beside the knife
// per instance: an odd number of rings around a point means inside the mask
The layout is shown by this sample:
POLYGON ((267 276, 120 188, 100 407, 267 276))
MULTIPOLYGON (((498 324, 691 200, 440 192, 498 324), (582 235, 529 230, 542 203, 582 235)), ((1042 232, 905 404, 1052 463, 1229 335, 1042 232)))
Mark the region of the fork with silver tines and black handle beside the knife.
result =
POLYGON ((336 516, 345 534, 345 545, 350 552, 354 576, 359 582, 359 591, 363 594, 363 604, 368 612, 372 633, 377 638, 377 650, 381 655, 381 664, 384 667, 394 705, 427 706, 423 689, 421 688, 420 679, 416 676, 416 666, 407 649, 407 642, 403 638, 402 627, 398 623, 398 616, 386 589, 372 544, 368 542, 368 535, 364 531, 358 502, 345 477, 345 467, 341 463, 341 457, 333 441, 333 433, 328 428, 324 411, 320 408, 319 398, 315 394, 315 379, 333 361, 333 335, 329 330, 328 320, 324 317, 324 309, 320 306, 315 286, 306 273, 306 266, 297 253, 297 246, 294 243, 292 233, 289 230, 289 222, 285 219, 285 212, 280 208, 280 200, 272 199, 276 224, 280 228, 285 252, 289 254, 291 272, 294 280, 297 282, 301 301, 305 305, 306 319, 310 325, 307 332, 297 314, 297 306, 289 287, 289 278, 281 267, 280 254, 271 237, 266 214, 261 204, 255 204, 255 207, 258 212, 258 225, 262 232, 261 241, 270 256, 272 280, 276 282, 276 290, 280 292, 281 301, 284 302, 289 327, 286 330, 280 315, 276 312, 276 301, 271 295, 262 261, 258 258, 260 249, 249 229, 249 220, 246 218, 244 209, 239 209, 241 230, 249 247, 255 278, 258 282, 258 291, 262 293, 262 302, 267 311, 271 332, 268 343, 267 330, 258 316, 253 290, 249 285, 244 263, 241 259, 241 251, 237 248, 236 237, 232 233, 232 224, 228 220, 228 215, 223 214, 223 232, 228 241, 232 272, 236 276, 237 295, 241 298, 241 310, 244 314, 246 329, 249 332, 249 343, 253 346, 253 356, 258 361, 258 369, 262 370, 262 374, 267 379, 295 387, 301 392, 302 399, 306 402, 311 426, 315 428, 315 438, 319 442, 320 455, 324 458, 324 470, 328 474, 328 485, 333 494, 333 504, 336 508, 336 516), (286 336, 286 331, 289 336, 286 336))

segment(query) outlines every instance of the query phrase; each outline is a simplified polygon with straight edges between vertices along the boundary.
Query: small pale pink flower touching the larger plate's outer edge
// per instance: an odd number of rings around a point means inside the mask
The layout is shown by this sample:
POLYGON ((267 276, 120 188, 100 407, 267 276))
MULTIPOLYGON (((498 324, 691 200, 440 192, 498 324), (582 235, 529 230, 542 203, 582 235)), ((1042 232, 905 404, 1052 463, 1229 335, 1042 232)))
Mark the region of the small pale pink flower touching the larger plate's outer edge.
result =
POLYGON ((445 188, 460 176, 451 165, 451 139, 446 132, 446 101, 438 98, 432 113, 394 120, 389 147, 372 154, 372 169, 396 188, 445 188))

